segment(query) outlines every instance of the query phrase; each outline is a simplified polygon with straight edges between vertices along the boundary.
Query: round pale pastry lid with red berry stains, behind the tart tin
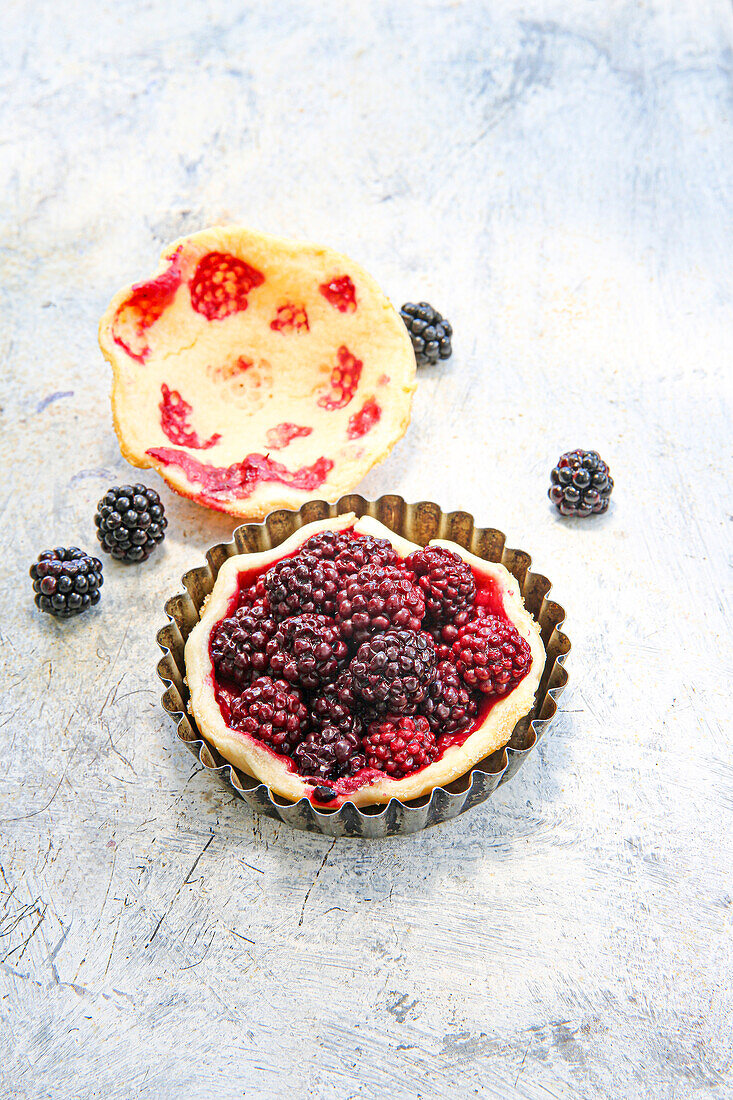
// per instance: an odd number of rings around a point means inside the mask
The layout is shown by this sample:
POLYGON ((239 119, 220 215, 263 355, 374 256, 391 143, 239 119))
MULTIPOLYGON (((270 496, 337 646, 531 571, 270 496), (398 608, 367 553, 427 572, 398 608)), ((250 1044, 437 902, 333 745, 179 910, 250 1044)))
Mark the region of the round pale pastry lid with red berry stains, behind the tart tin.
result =
POLYGON ((125 459, 243 519, 336 499, 409 424, 415 355, 400 315, 358 264, 316 244, 238 226, 182 238, 114 296, 99 343, 125 459))

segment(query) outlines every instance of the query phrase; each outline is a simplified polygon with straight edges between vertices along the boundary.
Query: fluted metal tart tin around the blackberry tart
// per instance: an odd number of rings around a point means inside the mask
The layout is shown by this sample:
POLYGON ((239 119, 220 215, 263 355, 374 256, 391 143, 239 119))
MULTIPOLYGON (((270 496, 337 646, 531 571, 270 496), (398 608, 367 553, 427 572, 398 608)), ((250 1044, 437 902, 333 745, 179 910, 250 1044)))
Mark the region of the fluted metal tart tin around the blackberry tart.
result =
POLYGON ((560 626, 565 612, 549 598, 550 582, 529 569, 532 559, 524 550, 511 550, 502 531, 477 527, 467 512, 442 513, 431 501, 407 504, 400 496, 382 496, 366 501, 349 494, 336 504, 309 501, 298 512, 278 509, 261 524, 238 527, 231 542, 219 542, 206 554, 206 564, 184 573, 184 591, 165 603, 167 626, 157 632, 163 657, 157 674, 165 684, 162 702, 176 723, 178 737, 200 763, 225 787, 229 788, 251 810, 276 817, 293 828, 337 837, 386 837, 417 833, 440 822, 457 817, 479 802, 485 801, 502 783, 506 783, 522 767, 527 755, 547 730, 557 713, 557 700, 568 682, 564 668, 570 642, 560 626), (275 794, 270 788, 228 763, 214 745, 201 735, 188 712, 188 688, 184 647, 199 619, 201 606, 211 592, 222 563, 232 554, 269 550, 284 542, 294 531, 315 519, 327 519, 343 513, 373 516, 395 534, 424 546, 430 539, 451 539, 478 558, 501 562, 516 578, 527 609, 537 622, 545 646, 545 668, 530 713, 522 718, 505 748, 445 788, 436 787, 429 794, 411 802, 392 799, 386 805, 357 807, 351 802, 335 810, 315 809, 303 798, 298 802, 275 794))

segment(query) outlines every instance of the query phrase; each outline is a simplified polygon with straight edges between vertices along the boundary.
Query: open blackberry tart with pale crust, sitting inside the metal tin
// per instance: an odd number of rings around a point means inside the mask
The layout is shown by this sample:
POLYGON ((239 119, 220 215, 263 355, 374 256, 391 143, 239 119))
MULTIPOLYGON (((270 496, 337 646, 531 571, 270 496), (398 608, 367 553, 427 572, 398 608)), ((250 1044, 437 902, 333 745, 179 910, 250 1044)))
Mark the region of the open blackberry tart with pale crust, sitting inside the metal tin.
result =
POLYGON ((417 799, 505 746, 545 650, 503 565, 348 514, 229 558, 185 663, 190 712, 236 768, 294 802, 368 806, 417 799), (335 604, 316 564, 339 557, 351 564, 335 604))

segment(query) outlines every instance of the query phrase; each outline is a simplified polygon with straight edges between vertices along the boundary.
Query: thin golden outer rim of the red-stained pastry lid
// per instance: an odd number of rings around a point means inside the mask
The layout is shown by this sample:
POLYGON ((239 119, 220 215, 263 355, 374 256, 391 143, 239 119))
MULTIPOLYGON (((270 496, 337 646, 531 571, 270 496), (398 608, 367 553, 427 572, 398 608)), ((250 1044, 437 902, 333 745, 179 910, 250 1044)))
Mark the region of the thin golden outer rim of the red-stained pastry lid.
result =
MULTIPOLYGON (((112 369, 112 424, 114 427, 114 433, 120 444, 122 457, 132 466, 143 470, 155 470, 161 475, 163 481, 166 482, 166 484, 169 485, 176 493, 189 501, 194 501, 203 507, 225 512, 243 520, 262 520, 275 508, 299 508, 302 504, 313 497, 313 491, 288 488, 288 486, 276 482, 263 482, 253 490, 250 496, 239 501, 232 499, 217 503, 201 501, 201 493, 196 491, 195 485, 188 481, 182 470, 177 466, 165 465, 164 463, 145 454, 144 451, 141 452, 129 444, 124 436, 119 414, 119 403, 121 402, 121 394, 123 392, 122 373, 130 367, 131 362, 124 351, 117 345, 112 336, 112 326, 119 307, 127 300, 128 296, 132 293, 135 286, 140 285, 140 283, 152 282, 158 275, 162 275, 165 271, 167 271, 171 263, 171 256, 178 248, 185 248, 192 242, 197 244, 200 241, 206 241, 208 248, 215 249, 217 245, 217 234, 225 235, 232 232, 241 232, 244 235, 258 238, 260 241, 265 241, 273 248, 278 249, 284 254, 289 253, 295 255, 304 251, 310 251, 318 257, 331 258, 335 266, 348 264, 349 271, 357 275, 360 282, 369 286, 372 293, 376 294, 376 296, 382 299, 385 310, 387 310, 390 315, 394 315, 394 318, 400 322, 400 329, 404 330, 406 352, 405 364, 407 366, 407 371, 404 383, 395 385, 393 391, 393 395, 398 394, 401 396, 404 407, 400 422, 395 427, 393 438, 391 438, 386 444, 381 448, 381 450, 375 450, 373 453, 369 454, 368 461, 359 464, 357 468, 358 472, 355 473, 348 473, 348 470, 354 469, 354 465, 349 465, 347 466, 347 473, 339 477, 339 468, 335 466, 329 476, 318 488, 318 495, 321 499, 332 502, 342 494, 351 492, 351 490, 358 485, 363 477, 365 477, 373 466, 384 461, 384 459, 403 438, 407 431, 412 417, 412 398, 417 388, 417 383, 415 381, 417 365, 415 362, 415 353, 413 351, 412 341, 407 330, 405 329, 404 322, 376 280, 369 274, 369 272, 364 271, 360 264, 355 263, 355 261, 351 260, 351 257, 347 256, 344 253, 327 248, 326 245, 314 244, 309 241, 295 241, 289 238, 275 237, 270 233, 261 233, 258 230, 251 230, 244 226, 238 224, 211 226, 208 229, 198 230, 196 233, 190 233, 187 237, 180 237, 171 244, 167 244, 161 252, 161 260, 157 270, 153 272, 152 275, 145 279, 138 279, 135 283, 130 283, 122 287, 122 289, 114 295, 109 306, 102 314, 98 328, 98 341, 101 353, 112 369)), ((183 450, 186 450, 186 448, 183 448, 183 450)), ((366 450, 369 449, 366 448, 366 450)), ((188 453, 188 451, 186 451, 186 453, 188 453)))

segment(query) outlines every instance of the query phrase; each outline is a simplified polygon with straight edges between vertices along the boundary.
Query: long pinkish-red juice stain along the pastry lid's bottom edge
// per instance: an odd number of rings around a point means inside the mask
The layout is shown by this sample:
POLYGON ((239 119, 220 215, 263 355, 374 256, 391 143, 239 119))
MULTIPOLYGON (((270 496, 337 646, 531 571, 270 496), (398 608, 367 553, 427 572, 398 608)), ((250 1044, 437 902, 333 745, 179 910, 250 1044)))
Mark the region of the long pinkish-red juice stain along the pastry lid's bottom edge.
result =
POLYGON ((262 482, 280 482, 291 488, 311 491, 322 485, 333 469, 332 461, 325 458, 317 459, 310 466, 288 470, 264 454, 248 454, 230 466, 212 466, 172 447, 153 447, 145 453, 166 466, 183 470, 189 482, 201 486, 197 498, 214 507, 222 499, 239 501, 251 496, 262 482))

